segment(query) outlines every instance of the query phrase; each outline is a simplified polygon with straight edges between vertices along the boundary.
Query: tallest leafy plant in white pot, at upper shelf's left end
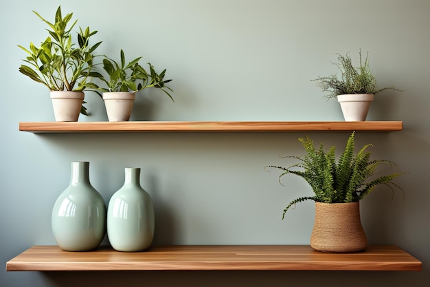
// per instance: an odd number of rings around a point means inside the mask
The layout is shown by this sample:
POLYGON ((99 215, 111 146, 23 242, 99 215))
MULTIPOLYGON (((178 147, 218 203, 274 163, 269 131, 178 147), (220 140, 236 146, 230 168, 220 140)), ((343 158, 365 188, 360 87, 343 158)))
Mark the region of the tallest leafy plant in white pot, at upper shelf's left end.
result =
POLYGON ((73 43, 72 29, 77 21, 71 23, 73 13, 63 17, 60 7, 56 10, 54 23, 33 12, 49 26, 49 36, 39 47, 34 43, 30 43, 29 49, 19 45, 28 54, 23 60, 27 65, 21 65, 19 72, 49 89, 56 121, 77 121, 80 113, 87 115, 82 106, 83 91, 91 77, 98 75, 93 72, 93 52, 102 42, 89 45, 89 39, 97 31, 87 27, 79 28, 78 45, 73 43))

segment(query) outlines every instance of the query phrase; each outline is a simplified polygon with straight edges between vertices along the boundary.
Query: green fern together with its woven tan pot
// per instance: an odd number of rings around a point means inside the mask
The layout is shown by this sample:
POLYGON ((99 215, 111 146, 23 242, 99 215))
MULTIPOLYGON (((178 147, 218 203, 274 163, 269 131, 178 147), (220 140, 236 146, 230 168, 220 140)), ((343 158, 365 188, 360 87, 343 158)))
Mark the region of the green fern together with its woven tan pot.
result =
MULTIPOLYGON (((286 211, 299 202, 315 201, 315 224, 310 237, 310 246, 317 251, 356 252, 367 246, 367 240, 361 226, 359 201, 365 198, 378 185, 392 189, 401 189, 393 182, 403 173, 381 175, 376 171, 381 165, 394 165, 389 160, 372 160, 371 152, 362 147, 354 154, 354 132, 348 138, 346 148, 339 160, 335 159, 335 147, 325 151, 323 145, 316 149, 310 138, 299 138, 306 155, 287 156, 295 158, 298 163, 291 167, 268 167, 282 170, 279 176, 293 174, 304 178, 313 189, 313 196, 304 196, 292 200, 284 209, 286 211)), ((282 184, 282 183, 281 183, 282 184)))

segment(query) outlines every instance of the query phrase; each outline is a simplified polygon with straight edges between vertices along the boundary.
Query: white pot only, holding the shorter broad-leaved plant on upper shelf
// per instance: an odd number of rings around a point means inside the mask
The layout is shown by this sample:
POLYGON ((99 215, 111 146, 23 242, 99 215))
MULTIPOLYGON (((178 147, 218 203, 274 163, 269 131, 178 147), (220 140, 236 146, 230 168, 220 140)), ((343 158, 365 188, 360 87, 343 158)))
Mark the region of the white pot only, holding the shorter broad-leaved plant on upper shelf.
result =
POLYGON ((130 92, 103 93, 104 106, 109 122, 124 122, 130 119, 136 94, 130 92))

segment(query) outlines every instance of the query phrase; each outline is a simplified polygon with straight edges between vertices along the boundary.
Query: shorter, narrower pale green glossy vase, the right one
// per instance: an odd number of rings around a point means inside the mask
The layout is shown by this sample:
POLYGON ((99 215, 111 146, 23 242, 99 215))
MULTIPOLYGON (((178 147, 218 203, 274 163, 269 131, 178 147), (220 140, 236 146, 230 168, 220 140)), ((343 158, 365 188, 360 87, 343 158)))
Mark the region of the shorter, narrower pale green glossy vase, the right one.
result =
POLYGON ((116 251, 144 251, 154 237, 154 206, 139 178, 139 168, 126 168, 124 185, 109 200, 107 234, 116 251))

